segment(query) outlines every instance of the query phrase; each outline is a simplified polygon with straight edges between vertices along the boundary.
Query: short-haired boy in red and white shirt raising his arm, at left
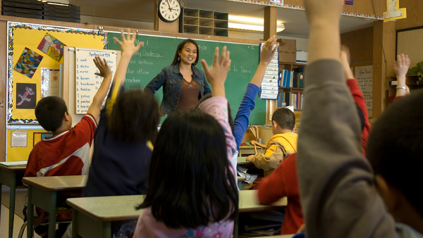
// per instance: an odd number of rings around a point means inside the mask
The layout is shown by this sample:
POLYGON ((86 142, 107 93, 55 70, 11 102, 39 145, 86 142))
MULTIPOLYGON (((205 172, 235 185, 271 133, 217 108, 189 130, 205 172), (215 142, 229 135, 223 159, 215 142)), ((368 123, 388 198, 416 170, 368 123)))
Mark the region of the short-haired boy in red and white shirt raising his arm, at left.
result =
MULTIPOLYGON (((35 144, 28 158, 25 175, 23 177, 45 177, 64 175, 85 175, 90 165, 90 147, 94 132, 97 129, 97 118, 100 106, 104 101, 111 82, 111 70, 99 57, 94 59, 100 73, 104 77, 102 85, 92 99, 87 114, 79 123, 72 127, 72 116, 63 99, 58 96, 47 96, 38 101, 35 106, 35 116, 44 130, 53 133, 52 137, 42 139, 35 144)), ((25 186, 25 182, 23 182, 25 186)), ((26 206, 24 208, 24 213, 26 206)), ((37 208, 37 215, 43 212, 37 208)), ((56 231, 61 237, 68 224, 59 224, 56 231)), ((35 232, 44 237, 48 233, 48 225, 35 227, 35 232)))

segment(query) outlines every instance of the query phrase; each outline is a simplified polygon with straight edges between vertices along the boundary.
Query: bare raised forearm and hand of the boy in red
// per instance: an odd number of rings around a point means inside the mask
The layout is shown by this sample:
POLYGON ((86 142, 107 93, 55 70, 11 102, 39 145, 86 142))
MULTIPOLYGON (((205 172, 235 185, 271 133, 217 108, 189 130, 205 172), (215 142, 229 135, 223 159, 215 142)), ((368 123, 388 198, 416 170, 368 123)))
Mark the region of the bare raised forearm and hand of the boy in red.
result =
POLYGON ((104 98, 106 97, 107 91, 110 87, 111 81, 111 68, 106 62, 106 59, 101 59, 99 57, 93 58, 93 61, 97 68, 99 69, 100 73, 95 73, 95 75, 104 77, 102 84, 100 85, 97 93, 94 95, 92 99, 92 103, 87 110, 87 114, 91 114, 94 116, 95 120, 99 118, 100 109, 103 104, 104 98))

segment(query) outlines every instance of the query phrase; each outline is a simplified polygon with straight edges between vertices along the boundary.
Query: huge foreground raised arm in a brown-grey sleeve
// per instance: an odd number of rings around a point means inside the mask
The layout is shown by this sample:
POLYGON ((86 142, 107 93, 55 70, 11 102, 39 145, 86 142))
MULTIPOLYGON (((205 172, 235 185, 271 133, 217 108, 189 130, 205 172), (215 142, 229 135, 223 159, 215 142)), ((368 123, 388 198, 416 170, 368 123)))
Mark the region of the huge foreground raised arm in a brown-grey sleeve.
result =
POLYGON ((396 237, 360 150, 360 123, 339 61, 339 0, 305 0, 310 25, 298 180, 307 237, 396 237))

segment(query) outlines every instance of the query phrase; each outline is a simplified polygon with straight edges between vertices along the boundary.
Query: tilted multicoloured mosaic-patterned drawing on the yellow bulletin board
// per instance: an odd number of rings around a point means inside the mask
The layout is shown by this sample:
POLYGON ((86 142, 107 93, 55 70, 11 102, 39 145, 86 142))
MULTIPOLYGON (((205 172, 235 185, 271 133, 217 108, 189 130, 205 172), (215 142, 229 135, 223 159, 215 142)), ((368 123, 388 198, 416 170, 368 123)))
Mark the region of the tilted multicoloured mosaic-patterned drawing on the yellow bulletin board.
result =
POLYGON ((14 70, 18 71, 19 73, 32 78, 35 74, 35 70, 37 70, 39 63, 42 61, 42 56, 37 54, 35 51, 28 49, 25 47, 18 63, 16 63, 14 70))

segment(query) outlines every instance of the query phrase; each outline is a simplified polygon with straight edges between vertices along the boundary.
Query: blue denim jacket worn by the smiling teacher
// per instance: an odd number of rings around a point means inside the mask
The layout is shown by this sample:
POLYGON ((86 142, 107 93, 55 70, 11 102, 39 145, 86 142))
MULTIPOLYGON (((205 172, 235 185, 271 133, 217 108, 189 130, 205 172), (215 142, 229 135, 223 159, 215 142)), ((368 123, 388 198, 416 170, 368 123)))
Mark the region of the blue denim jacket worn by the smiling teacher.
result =
MULTIPOLYGON (((191 68, 194 73, 192 80, 197 82, 200 87, 201 96, 211 93, 212 90, 210 90, 209 84, 207 84, 204 72, 194 65, 191 65, 191 68)), ((182 82, 183 75, 180 73, 179 63, 177 63, 176 65, 169 65, 163 68, 163 70, 147 84, 144 90, 145 92, 154 94, 163 86, 163 99, 161 101, 160 110, 165 114, 169 114, 173 113, 178 106, 182 82)))

